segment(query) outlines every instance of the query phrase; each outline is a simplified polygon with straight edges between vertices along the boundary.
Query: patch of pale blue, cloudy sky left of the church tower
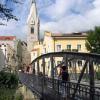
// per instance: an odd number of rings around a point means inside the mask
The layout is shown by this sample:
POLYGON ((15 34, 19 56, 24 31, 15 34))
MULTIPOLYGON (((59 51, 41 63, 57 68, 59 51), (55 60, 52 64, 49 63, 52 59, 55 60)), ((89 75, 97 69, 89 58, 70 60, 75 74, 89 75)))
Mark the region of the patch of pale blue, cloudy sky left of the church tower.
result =
POLYGON ((0 35, 15 35, 23 40, 26 39, 26 19, 29 11, 30 0, 24 0, 24 4, 17 4, 14 8, 14 13, 19 21, 10 20, 6 23, 7 26, 0 25, 0 35))

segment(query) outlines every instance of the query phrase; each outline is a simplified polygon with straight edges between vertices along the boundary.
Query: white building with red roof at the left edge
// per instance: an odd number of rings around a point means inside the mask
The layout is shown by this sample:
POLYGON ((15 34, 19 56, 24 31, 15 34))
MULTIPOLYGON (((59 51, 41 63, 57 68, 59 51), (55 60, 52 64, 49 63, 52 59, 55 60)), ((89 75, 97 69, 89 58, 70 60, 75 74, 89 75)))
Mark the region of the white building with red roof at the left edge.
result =
MULTIPOLYGON (((12 66, 15 65, 12 62, 15 53, 15 36, 0 36, 0 67, 12 66)), ((15 58, 14 58, 15 59, 15 58)))

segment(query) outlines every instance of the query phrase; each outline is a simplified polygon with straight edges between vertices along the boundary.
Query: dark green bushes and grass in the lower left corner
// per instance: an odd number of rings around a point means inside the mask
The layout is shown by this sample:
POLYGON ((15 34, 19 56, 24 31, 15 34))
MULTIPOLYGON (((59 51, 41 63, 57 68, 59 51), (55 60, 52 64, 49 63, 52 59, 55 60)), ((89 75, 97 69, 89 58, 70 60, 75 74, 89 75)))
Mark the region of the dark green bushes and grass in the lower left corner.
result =
POLYGON ((23 100, 21 93, 16 94, 18 89, 18 77, 13 73, 0 72, 0 100, 23 100))

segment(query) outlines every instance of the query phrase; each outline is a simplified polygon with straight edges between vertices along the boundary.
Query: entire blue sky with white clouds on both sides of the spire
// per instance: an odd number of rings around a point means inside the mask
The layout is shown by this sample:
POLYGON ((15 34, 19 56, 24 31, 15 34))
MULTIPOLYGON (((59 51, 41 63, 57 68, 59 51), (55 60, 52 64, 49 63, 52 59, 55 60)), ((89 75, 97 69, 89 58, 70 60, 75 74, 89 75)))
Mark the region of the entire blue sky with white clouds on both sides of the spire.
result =
MULTIPOLYGON (((100 25, 100 0, 36 0, 40 19, 40 33, 82 32, 100 25)), ((31 0, 13 5, 19 21, 10 20, 7 26, 0 26, 0 35, 16 35, 26 39, 27 17, 31 0)))

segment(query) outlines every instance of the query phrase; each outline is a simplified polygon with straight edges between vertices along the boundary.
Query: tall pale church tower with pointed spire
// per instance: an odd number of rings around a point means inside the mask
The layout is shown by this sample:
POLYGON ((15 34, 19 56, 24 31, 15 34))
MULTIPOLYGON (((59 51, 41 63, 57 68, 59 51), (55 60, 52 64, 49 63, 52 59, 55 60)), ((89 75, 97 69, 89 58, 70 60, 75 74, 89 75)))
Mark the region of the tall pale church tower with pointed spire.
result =
POLYGON ((27 46, 29 52, 34 48, 34 43, 39 42, 39 18, 37 14, 36 2, 35 0, 32 0, 31 3, 30 13, 27 19, 27 46))

